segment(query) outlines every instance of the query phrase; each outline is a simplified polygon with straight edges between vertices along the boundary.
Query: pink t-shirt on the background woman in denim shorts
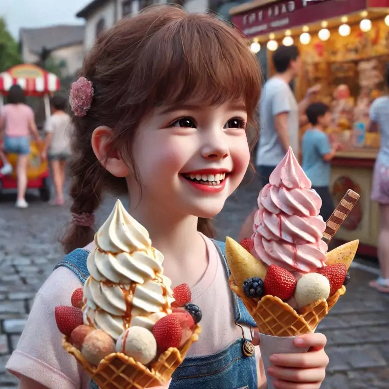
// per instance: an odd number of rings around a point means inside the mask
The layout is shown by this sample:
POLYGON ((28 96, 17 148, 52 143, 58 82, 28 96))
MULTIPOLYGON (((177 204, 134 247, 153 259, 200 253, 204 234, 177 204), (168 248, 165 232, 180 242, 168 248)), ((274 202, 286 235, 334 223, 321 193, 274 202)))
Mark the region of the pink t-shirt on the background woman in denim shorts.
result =
POLYGON ((34 119, 34 111, 26 104, 6 104, 1 116, 4 119, 7 136, 28 136, 29 122, 34 119))

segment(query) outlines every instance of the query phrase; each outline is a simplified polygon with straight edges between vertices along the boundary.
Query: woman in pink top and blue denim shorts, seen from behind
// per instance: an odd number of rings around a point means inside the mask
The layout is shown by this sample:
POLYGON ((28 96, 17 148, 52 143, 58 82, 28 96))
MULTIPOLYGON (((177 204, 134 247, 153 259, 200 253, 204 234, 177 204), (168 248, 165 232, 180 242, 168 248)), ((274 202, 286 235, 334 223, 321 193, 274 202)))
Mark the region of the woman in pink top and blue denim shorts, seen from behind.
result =
POLYGON ((30 134, 39 140, 34 122, 33 110, 24 103, 25 96, 19 85, 13 85, 8 94, 8 104, 3 107, 0 117, 0 138, 4 135, 4 150, 18 154, 16 175, 18 177, 18 199, 16 207, 27 208, 27 162, 30 153, 30 134), (4 134, 3 134, 4 133, 4 134))

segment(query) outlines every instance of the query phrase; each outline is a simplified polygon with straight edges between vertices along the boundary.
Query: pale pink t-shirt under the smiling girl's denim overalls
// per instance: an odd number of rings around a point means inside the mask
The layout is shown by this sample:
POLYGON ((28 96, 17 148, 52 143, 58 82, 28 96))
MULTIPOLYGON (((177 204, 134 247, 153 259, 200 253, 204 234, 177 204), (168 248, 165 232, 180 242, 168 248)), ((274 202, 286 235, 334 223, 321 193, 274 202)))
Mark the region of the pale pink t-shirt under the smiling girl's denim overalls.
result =
MULTIPOLYGON (((208 267, 199 283, 191 289, 192 301, 203 311, 202 333, 199 341, 191 346, 189 356, 218 353, 242 336, 241 329, 235 324, 232 295, 222 259, 212 241, 206 237, 204 240, 208 267)), ((72 292, 80 286, 80 280, 68 268, 59 267, 53 271, 38 291, 23 334, 7 363, 6 368, 11 373, 27 376, 50 389, 89 389, 88 375, 62 348, 62 335, 54 318, 54 307, 69 305, 72 292)), ((249 328, 245 328, 248 338, 249 332, 249 328)), ((255 348, 259 366, 259 347, 255 348)), ((258 382, 263 383, 264 378, 259 375, 258 369, 258 382)))

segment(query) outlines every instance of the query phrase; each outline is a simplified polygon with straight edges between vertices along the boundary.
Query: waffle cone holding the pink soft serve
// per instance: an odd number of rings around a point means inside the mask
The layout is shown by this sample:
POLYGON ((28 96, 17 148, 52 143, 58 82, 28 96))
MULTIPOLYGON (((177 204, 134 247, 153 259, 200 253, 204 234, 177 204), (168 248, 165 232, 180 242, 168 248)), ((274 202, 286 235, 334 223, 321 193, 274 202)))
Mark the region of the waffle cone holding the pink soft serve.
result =
POLYGON ((322 298, 299 309, 300 313, 297 313, 289 304, 275 296, 267 295, 259 301, 247 297, 232 277, 229 279, 229 285, 242 299, 259 332, 272 336, 296 336, 314 332, 346 290, 342 286, 327 301, 322 298))

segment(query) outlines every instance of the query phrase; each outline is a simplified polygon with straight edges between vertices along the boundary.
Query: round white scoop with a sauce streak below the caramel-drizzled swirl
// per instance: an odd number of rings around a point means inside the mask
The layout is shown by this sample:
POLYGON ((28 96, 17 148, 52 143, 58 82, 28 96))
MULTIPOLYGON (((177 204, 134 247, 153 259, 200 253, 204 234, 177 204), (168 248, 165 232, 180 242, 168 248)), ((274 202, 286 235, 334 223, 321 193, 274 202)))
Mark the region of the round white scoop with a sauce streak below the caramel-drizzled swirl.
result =
POLYGON ((143 327, 130 327, 116 342, 116 353, 123 353, 143 365, 149 364, 157 355, 157 341, 143 327))

